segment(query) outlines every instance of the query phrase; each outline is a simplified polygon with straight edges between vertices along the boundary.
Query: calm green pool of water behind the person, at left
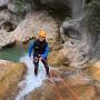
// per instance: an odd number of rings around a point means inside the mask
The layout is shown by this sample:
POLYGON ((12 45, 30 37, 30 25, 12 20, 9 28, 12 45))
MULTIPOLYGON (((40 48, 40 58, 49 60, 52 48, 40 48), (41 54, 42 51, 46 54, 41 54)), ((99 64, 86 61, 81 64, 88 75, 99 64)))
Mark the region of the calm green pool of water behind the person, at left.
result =
POLYGON ((28 44, 17 43, 13 47, 0 49, 0 59, 18 62, 28 52, 28 44))

